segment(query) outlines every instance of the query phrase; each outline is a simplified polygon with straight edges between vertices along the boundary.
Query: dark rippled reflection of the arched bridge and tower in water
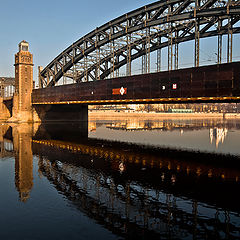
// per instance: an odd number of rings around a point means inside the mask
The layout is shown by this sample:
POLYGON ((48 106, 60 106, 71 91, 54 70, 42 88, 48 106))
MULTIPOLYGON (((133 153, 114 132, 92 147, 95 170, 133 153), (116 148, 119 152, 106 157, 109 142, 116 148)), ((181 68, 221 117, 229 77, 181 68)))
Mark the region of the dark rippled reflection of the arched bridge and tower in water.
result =
MULTIPOLYGON (((56 125, 58 134, 51 125, 21 130, 12 126, 19 192, 29 194, 33 186, 32 156, 36 155, 39 173, 59 193, 118 236, 240 236, 239 157, 90 139, 85 131, 80 135, 82 126, 73 127, 80 137, 71 140, 66 132, 61 136, 56 125), (28 167, 20 169, 20 163, 28 167)), ((11 135, 9 129, 2 132, 11 135)))

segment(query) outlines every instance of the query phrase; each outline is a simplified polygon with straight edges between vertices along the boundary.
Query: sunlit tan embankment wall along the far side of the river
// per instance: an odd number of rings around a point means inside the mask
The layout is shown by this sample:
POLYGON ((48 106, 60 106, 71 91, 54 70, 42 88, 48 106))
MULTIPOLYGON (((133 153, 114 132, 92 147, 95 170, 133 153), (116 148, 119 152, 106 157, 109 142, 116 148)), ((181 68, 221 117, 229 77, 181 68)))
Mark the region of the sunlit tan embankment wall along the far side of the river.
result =
POLYGON ((89 111, 89 119, 121 119, 121 118, 140 118, 140 119, 159 119, 159 118, 227 118, 240 119, 240 114, 236 113, 156 113, 156 112, 116 112, 116 111, 89 111))

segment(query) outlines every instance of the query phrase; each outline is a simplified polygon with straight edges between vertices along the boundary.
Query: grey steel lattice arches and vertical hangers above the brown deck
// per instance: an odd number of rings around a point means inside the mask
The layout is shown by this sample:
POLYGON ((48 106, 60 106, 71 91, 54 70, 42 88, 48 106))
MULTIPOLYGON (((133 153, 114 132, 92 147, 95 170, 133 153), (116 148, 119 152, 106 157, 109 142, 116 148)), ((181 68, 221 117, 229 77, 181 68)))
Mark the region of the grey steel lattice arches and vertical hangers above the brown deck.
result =
POLYGON ((222 63, 223 35, 227 35, 227 62, 232 61, 233 34, 240 33, 239 0, 161 0, 122 15, 88 33, 39 71, 41 87, 87 82, 119 76, 126 65, 142 58, 142 73, 150 72, 150 54, 168 49, 168 70, 178 69, 178 46, 195 41, 194 66, 199 66, 200 38, 217 36, 218 63, 222 63))

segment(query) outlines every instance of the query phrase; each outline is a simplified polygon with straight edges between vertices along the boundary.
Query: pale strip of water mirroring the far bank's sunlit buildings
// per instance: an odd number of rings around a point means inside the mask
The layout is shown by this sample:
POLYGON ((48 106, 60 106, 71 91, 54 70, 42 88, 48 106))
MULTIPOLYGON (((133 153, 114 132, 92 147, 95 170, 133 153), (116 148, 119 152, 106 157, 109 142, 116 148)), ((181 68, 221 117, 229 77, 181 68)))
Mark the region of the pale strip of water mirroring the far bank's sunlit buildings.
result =
POLYGON ((240 119, 126 118, 89 122, 89 137, 240 155, 240 119))

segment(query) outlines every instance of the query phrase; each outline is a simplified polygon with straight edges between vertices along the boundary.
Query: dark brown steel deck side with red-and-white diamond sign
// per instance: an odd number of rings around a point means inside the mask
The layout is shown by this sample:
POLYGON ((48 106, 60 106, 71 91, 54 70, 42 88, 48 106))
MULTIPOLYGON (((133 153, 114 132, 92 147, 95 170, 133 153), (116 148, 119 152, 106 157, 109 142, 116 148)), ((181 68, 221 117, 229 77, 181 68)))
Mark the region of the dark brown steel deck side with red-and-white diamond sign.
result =
POLYGON ((32 93, 33 104, 240 100, 240 62, 82 82, 32 93))

